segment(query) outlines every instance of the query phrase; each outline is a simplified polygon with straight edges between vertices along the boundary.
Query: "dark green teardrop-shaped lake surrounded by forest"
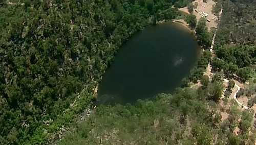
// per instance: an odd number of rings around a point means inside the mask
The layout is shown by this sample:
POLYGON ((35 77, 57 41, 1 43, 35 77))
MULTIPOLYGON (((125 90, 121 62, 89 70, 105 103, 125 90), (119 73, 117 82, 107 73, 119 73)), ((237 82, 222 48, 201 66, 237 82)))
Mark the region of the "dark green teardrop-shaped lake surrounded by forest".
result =
POLYGON ((198 52, 196 39, 179 24, 144 29, 127 41, 105 72, 96 105, 135 103, 174 91, 195 65, 198 52))

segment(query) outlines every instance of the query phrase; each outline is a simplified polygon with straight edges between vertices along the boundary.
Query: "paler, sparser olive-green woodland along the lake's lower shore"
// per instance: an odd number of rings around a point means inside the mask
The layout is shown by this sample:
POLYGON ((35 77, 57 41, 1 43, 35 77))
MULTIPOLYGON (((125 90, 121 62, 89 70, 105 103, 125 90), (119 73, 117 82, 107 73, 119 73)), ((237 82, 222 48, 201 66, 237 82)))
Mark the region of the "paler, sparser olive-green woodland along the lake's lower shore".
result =
POLYGON ((253 112, 241 112, 231 100, 228 117, 222 120, 221 108, 212 100, 218 81, 208 83, 203 89, 177 88, 174 94, 138 100, 136 105, 100 106, 58 144, 253 145, 253 112), (235 135, 237 126, 240 131, 235 135))

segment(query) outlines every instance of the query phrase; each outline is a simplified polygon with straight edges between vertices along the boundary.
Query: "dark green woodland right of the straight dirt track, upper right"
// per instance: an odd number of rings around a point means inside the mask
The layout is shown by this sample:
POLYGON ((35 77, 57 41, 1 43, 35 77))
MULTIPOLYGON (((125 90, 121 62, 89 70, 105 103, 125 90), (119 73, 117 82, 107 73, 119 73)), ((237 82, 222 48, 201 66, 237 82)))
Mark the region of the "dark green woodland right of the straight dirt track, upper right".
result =
POLYGON ((238 76, 242 82, 255 76, 255 1, 218 0, 215 11, 223 12, 216 33, 214 51, 217 57, 211 64, 224 70, 225 76, 238 76))

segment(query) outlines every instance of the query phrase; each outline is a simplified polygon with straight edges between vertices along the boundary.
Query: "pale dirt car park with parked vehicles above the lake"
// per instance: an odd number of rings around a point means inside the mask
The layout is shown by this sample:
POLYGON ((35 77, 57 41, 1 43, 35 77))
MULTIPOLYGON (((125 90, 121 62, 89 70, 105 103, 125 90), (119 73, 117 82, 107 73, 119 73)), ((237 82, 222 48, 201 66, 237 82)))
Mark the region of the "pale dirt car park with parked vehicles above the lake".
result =
POLYGON ((215 5, 215 2, 207 0, 207 3, 204 3, 203 0, 196 0, 192 3, 198 5, 193 12, 193 14, 197 16, 197 19, 205 17, 207 19, 206 26, 208 27, 208 30, 210 30, 211 27, 217 28, 216 20, 218 17, 211 13, 212 6, 215 5))

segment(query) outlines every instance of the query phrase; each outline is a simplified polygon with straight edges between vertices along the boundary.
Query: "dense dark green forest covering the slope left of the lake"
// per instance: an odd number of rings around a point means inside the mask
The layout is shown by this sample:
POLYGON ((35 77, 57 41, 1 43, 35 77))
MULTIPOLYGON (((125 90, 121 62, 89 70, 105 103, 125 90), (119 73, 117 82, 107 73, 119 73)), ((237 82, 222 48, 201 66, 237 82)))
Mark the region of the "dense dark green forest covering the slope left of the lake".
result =
POLYGON ((133 34, 178 1, 1 1, 0 144, 46 143, 93 98, 133 34))

